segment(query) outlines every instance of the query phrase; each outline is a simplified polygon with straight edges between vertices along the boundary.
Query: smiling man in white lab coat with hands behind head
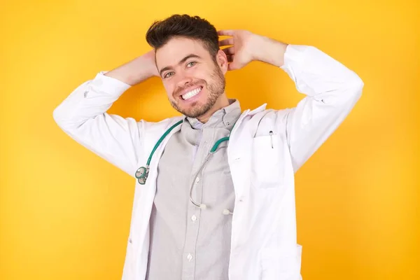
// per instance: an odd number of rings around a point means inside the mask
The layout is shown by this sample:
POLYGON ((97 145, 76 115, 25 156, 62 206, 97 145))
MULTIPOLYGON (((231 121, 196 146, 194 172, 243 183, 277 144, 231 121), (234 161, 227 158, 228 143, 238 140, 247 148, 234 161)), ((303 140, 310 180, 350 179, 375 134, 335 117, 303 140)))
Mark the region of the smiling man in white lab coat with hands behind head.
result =
POLYGON ((146 40, 153 50, 97 73, 54 111, 70 137, 137 179, 123 279, 302 279, 294 174, 349 114, 363 81, 317 48, 216 31, 199 17, 155 22, 146 40), (293 109, 242 112, 225 73, 251 61, 283 69, 307 97, 293 109), (181 117, 106 113, 151 76, 181 117))

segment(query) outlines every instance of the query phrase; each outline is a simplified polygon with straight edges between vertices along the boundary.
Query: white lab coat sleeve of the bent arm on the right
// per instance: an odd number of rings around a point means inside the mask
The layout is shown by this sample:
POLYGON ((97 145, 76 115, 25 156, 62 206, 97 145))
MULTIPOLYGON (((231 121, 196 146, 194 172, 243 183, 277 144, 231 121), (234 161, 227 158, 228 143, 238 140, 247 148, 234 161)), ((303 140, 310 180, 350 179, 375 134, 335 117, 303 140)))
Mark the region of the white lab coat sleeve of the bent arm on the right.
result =
POLYGON ((356 73, 313 46, 288 45, 281 69, 297 91, 307 95, 286 110, 286 136, 297 172, 348 116, 364 84, 356 73))

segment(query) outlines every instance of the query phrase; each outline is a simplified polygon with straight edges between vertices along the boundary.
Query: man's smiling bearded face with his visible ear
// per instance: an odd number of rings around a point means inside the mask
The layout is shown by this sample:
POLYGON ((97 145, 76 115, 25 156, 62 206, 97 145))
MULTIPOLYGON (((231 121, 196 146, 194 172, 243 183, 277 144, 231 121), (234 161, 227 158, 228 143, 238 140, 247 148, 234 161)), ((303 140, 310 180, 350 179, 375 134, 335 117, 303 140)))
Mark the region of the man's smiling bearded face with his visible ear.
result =
POLYGON ((200 41, 189 38, 172 38, 156 51, 158 71, 176 111, 206 119, 228 105, 224 76, 228 59, 222 50, 216 61, 200 41))

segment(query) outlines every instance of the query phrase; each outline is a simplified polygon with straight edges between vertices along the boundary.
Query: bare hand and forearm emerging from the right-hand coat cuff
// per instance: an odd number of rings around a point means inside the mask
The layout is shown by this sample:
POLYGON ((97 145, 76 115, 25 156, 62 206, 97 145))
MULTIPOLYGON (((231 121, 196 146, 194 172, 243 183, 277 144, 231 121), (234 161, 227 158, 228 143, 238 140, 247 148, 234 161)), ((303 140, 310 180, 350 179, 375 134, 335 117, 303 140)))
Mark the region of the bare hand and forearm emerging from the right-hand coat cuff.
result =
POLYGON ((230 62, 228 70, 241 69, 253 60, 274 66, 282 66, 284 63, 284 52, 288 46, 286 43, 247 30, 220 30, 218 35, 232 36, 219 41, 219 46, 232 45, 223 49, 230 62))

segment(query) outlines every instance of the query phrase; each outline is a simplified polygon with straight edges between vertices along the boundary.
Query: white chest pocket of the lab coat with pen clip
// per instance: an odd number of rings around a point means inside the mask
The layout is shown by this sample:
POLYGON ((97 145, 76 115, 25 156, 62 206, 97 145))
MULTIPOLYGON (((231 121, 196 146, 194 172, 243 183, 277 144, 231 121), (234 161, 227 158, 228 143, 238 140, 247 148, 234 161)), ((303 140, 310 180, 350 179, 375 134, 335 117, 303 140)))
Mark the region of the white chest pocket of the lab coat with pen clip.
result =
POLYGON ((252 144, 251 182, 257 188, 283 185, 281 139, 278 134, 255 137, 252 144))

